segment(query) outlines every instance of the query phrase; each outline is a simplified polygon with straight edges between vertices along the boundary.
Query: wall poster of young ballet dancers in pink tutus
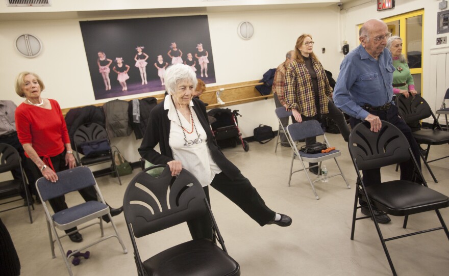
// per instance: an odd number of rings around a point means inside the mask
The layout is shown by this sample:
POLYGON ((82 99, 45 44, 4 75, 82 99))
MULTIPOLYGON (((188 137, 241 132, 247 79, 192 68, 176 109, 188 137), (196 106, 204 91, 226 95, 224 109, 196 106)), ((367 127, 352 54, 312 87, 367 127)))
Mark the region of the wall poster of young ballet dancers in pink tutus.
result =
POLYGON ((164 91, 164 72, 183 63, 215 81, 207 15, 80 21, 95 99, 164 91))

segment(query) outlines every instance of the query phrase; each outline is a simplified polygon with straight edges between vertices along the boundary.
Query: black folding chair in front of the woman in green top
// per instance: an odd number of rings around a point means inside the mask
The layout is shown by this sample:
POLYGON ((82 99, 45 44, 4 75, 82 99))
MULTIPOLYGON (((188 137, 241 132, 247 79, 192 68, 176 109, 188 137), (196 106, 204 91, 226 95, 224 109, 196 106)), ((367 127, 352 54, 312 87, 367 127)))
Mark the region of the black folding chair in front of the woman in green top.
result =
POLYGON ((421 151, 419 154, 429 170, 429 173, 432 175, 433 181, 438 183, 435 175, 429 167, 429 163, 447 158, 449 155, 429 161, 428 157, 430 146, 449 144, 449 132, 443 131, 429 104, 421 96, 416 95, 414 97, 406 98, 403 95, 400 95, 396 99, 396 104, 399 114, 406 123, 427 119, 432 116, 434 121, 431 129, 421 128, 420 130, 413 131, 412 134, 418 144, 427 145, 427 149, 425 150, 426 155, 423 155, 421 151))

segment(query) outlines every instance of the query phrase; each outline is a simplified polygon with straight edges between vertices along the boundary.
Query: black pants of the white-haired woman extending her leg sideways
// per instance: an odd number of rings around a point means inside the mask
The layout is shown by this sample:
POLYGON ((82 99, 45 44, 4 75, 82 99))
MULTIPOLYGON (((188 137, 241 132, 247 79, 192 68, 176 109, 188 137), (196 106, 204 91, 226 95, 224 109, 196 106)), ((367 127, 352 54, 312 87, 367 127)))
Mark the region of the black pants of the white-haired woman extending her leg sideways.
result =
MULTIPOLYGON (((237 204, 240 209, 256 220, 260 226, 264 226, 267 222, 275 218, 276 213, 265 205, 256 188, 241 173, 232 180, 221 172, 215 175, 210 185, 237 204)), ((204 187, 204 191, 210 203, 208 186, 204 187)), ((187 225, 189 226, 193 239, 213 239, 212 220, 209 214, 190 220, 187 222, 187 225)))

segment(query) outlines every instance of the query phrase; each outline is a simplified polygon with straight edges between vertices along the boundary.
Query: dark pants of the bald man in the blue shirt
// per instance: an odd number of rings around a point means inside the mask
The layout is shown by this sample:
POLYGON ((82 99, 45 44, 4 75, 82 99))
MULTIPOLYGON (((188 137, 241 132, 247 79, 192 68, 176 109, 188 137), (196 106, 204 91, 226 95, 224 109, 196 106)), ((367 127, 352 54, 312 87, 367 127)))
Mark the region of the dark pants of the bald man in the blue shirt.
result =
MULTIPOLYGON (((410 144, 410 148, 412 149, 413 155, 415 156, 416 161, 418 162, 419 169, 421 168, 421 162, 420 162, 420 155, 419 155, 419 147, 416 143, 416 140, 414 139, 412 135, 412 131, 410 130, 410 127, 405 123, 405 121, 399 117, 399 114, 397 112, 396 105, 391 105, 390 109, 387 111, 370 111, 369 112, 372 115, 378 116, 381 120, 387 121, 391 124, 393 124, 395 127, 397 127, 399 130, 401 130, 402 133, 404 133, 405 137, 407 138, 407 141, 410 144)), ((351 127, 355 127, 357 124, 362 122, 359 119, 350 118, 351 127)), ((412 180, 414 175, 414 165, 413 161, 410 159, 406 162, 399 164, 401 168, 401 180, 412 180)), ((372 170, 364 170, 362 171, 362 179, 363 183, 365 183, 365 186, 375 185, 381 183, 381 171, 380 169, 372 169, 372 170)), ((359 201, 361 206, 366 205, 366 202, 359 201)))

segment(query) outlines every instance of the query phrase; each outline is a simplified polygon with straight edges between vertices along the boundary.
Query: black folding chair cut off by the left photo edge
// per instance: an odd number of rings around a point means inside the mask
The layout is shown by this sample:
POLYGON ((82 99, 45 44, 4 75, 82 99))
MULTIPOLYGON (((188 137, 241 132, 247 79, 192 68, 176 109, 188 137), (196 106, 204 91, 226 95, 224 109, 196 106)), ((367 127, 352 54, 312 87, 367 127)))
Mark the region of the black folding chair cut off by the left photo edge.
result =
POLYGON ((0 174, 10 172, 12 170, 20 170, 22 179, 12 179, 0 182, 0 199, 7 198, 8 201, 0 203, 0 205, 9 204, 16 201, 21 201, 22 198, 9 200, 11 197, 20 196, 21 193, 26 195, 26 205, 20 204, 5 210, 0 210, 0 213, 20 207, 28 207, 28 215, 30 216, 30 223, 33 223, 31 216, 31 208, 34 210, 31 194, 28 189, 25 177, 23 175, 22 163, 20 162, 19 152, 11 145, 0 143, 0 174))

